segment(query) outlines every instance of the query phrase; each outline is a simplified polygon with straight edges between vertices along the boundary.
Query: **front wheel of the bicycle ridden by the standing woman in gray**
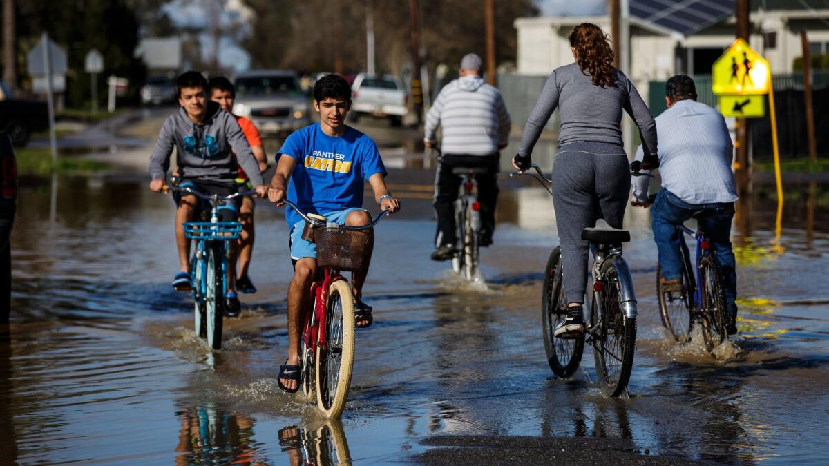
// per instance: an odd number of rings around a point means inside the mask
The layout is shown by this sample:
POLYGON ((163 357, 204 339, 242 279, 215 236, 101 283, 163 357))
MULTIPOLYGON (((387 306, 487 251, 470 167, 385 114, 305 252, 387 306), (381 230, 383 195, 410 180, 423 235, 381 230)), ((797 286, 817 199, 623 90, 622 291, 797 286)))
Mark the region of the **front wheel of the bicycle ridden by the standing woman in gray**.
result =
POLYGON ((567 317, 567 300, 561 283, 561 248, 550 252, 544 269, 541 292, 541 323, 544 331, 544 350, 547 364, 561 378, 572 376, 581 364, 584 353, 584 334, 578 338, 556 338, 555 328, 567 317))

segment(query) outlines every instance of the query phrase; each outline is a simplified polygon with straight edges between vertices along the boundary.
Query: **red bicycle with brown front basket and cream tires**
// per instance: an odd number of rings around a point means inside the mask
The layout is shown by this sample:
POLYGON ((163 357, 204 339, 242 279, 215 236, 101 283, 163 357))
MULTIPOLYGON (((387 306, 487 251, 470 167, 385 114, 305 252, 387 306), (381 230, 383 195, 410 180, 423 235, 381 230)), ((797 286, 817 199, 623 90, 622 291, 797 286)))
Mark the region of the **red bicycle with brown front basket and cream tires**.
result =
POLYGON ((371 242, 368 232, 388 210, 365 226, 327 223, 324 217, 293 207, 312 228, 317 245, 317 277, 311 284, 311 299, 305 309, 300 355, 299 385, 308 400, 317 396, 317 407, 329 418, 342 414, 354 366, 354 294, 341 272, 363 268, 371 242))

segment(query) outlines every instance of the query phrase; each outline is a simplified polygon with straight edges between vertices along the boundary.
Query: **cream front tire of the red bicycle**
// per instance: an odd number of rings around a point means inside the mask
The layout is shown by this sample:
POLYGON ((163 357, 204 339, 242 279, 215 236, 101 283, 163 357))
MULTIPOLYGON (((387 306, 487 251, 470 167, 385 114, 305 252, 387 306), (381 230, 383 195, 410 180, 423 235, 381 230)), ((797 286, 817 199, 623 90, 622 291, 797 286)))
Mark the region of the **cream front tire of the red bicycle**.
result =
POLYGON ((322 415, 339 418, 346 407, 354 366, 354 296, 346 280, 328 286, 325 325, 325 349, 317 347, 315 362, 317 407, 322 415))

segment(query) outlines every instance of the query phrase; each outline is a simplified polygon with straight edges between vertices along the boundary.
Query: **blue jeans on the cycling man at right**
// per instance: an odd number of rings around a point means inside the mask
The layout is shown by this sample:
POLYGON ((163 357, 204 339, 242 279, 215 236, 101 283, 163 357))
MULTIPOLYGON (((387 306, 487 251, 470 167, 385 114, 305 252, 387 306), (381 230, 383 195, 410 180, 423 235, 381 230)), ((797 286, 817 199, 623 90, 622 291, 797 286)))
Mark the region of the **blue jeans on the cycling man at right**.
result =
POLYGON ((734 203, 689 204, 662 188, 651 207, 651 227, 653 240, 659 250, 659 265, 665 279, 678 279, 682 276, 682 260, 679 255, 680 241, 684 241, 681 231, 676 226, 691 218, 694 212, 706 211, 711 215, 699 219, 705 237, 714 245, 717 260, 722 270, 725 301, 729 313, 737 315, 737 271, 734 252, 731 250, 731 219, 734 218, 734 203))

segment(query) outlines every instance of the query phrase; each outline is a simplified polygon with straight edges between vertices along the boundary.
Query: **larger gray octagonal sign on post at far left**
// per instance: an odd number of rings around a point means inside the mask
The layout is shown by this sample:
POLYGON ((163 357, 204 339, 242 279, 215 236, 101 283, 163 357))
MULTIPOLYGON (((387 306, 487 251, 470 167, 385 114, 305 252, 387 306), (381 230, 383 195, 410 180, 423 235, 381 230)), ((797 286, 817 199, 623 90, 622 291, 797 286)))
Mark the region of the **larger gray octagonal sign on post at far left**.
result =
POLYGON ((45 84, 46 103, 49 109, 49 140, 51 143, 52 163, 57 163, 57 139, 55 135, 55 90, 65 89, 64 75, 66 73, 66 54, 55 42, 49 39, 46 32, 41 36, 41 41, 29 52, 27 58, 27 70, 34 78, 34 87, 38 87, 40 78, 45 84), (57 78, 57 80, 56 80, 57 78))

